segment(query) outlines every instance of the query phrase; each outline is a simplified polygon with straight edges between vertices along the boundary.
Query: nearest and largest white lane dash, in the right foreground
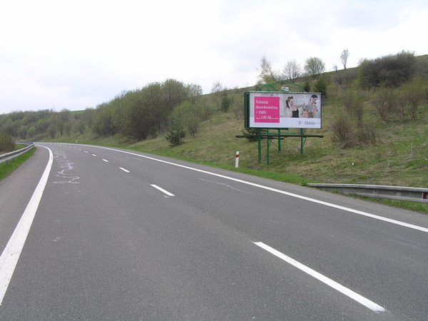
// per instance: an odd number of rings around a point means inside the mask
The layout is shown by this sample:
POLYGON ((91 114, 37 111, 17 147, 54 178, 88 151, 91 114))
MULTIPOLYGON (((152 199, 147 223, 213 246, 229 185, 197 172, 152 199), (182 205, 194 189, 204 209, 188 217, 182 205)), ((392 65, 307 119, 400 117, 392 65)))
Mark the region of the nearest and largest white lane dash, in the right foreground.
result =
POLYGON ((289 263, 294 267, 297 267, 299 270, 302 270, 308 275, 315 277, 315 279, 320 280, 321 282, 332 287, 333 289, 343 293, 347 297, 350 297, 352 300, 355 300, 360 304, 364 305, 365 307, 368 307, 370 310, 374 312, 387 312, 387 310, 384 307, 377 305, 376 303, 372 302, 366 297, 363 297, 362 295, 359 295, 357 292, 354 292, 348 289, 347 287, 344 287, 340 283, 337 283, 336 281, 331 280, 329 277, 326 277, 325 275, 322 275, 321 273, 315 270, 312 270, 310 267, 307 267, 306 265, 303 265, 302 263, 297 262, 296 260, 290 258, 289 256, 283 253, 280 253, 280 251, 277 251, 274 248, 271 248, 269 245, 266 245, 265 243, 262 243, 262 242, 253 242, 253 243, 255 245, 258 245, 260 248, 267 250, 267 252, 275 255, 277 258, 284 260, 285 262, 289 263))

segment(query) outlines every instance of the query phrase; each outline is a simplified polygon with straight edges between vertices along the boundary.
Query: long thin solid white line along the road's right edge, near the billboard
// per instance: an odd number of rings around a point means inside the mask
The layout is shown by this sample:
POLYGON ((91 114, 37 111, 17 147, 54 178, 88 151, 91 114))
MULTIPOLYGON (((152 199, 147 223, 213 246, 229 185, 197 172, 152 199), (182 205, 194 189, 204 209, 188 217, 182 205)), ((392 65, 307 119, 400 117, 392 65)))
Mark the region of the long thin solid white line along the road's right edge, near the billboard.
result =
POLYGON ((277 190, 276 188, 270 188, 270 187, 267 187, 267 186, 264 186, 264 185, 260 185, 260 184, 256 184, 256 183, 251 183, 251 182, 248 182, 246 180, 240 180, 238 178, 233 178, 233 177, 229 177, 229 176, 225 176, 225 175, 221 175, 221 174, 217 174, 217 173, 208 172, 207 170, 200 170, 198 168, 193 168, 193 167, 189 167, 189 166, 185 166, 185 165, 180 165, 180 164, 177 164, 177 163, 163 161, 163 160, 158 159, 158 158, 153 158, 153 157, 150 157, 150 156, 144 156, 144 155, 140 155, 140 154, 136 154, 136 153, 131 153, 131 152, 128 152, 128 151, 121 151, 121 150, 114 149, 114 148, 108 148, 108 147, 103 147, 103 146, 93 146, 93 145, 86 145, 86 146, 88 146, 88 147, 95 147, 95 148, 103 148, 103 149, 106 149, 108 151, 117 151, 117 152, 120 152, 120 153, 126 153, 126 154, 129 154, 129 155, 133 155, 133 156, 138 156, 138 157, 141 157, 141 158, 150 159, 152 161, 157 161, 157 162, 160 162, 160 163, 165 163, 165 164, 169 164, 169 165, 178 166, 180 168, 186 168, 188 170, 195 170, 196 172, 199 172, 199 173, 205 173, 205 174, 208 174, 208 175, 213 175, 213 176, 217 176, 217 177, 220 177, 220 178, 225 178, 225 179, 228 179, 228 180, 233 180, 233 181, 238 182, 238 183, 243 183, 243 184, 251 185, 251 186, 254 186, 254 187, 257 187, 257 188, 263 188, 265 190, 270 190, 272 192, 280 193, 280 194, 283 194, 283 195, 288 195, 288 196, 291 196, 293 198, 300 198, 302 200, 307 200, 307 201, 312 202, 312 203, 317 203, 317 204, 329 206, 330 208, 337 208, 339 210, 345 210, 345 211, 350 212, 350 213, 355 213, 355 214, 358 214, 358 215, 367 216, 368 218, 374 218, 376 220, 383 220, 384 222, 388 222, 388 223, 392 223, 392 224, 396 224, 396 225, 401 225, 401 226, 404 226, 405 228, 412 228, 414 230, 420 230, 422 232, 428 233, 428 228, 423 228, 422 226, 405 223, 405 222, 402 222, 400 220, 392 220, 391 218, 384 218, 383 216, 379 216, 379 215, 374 215, 374 214, 371 214, 371 213, 363 212, 362 210, 354 210, 352 208, 347 208, 347 207, 341 206, 341 205, 327 203, 327 202, 324 202, 322 200, 315 200, 315 198, 307 198, 306 196, 302 196, 302 195, 297 195, 297 194, 294 194, 294 193, 285 192, 284 190, 277 190))

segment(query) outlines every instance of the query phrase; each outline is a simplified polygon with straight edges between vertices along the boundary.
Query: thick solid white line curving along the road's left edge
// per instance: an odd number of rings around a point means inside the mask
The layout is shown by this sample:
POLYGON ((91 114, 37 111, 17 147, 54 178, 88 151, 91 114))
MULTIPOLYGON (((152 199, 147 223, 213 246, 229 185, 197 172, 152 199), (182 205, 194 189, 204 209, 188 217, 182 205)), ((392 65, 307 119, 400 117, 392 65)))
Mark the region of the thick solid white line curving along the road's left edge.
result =
POLYGON ((39 208, 41 196, 43 195, 44 188, 48 182, 52 163, 54 163, 54 156, 52 151, 45 146, 41 147, 44 147, 49 151, 48 164, 46 165, 44 173, 41 175, 39 184, 37 184, 37 187, 34 190, 34 193, 31 196, 31 199, 26 206, 26 209, 24 210, 18 225, 16 225, 14 233, 12 233, 6 248, 4 248, 3 253, 1 253, 0 256, 0 305, 1 302, 3 302, 4 295, 6 294, 6 290, 9 287, 9 282, 11 281, 12 275, 14 274, 16 263, 18 263, 22 248, 24 248, 24 243, 27 236, 29 235, 31 224, 33 223, 34 216, 36 215, 37 208, 39 208))

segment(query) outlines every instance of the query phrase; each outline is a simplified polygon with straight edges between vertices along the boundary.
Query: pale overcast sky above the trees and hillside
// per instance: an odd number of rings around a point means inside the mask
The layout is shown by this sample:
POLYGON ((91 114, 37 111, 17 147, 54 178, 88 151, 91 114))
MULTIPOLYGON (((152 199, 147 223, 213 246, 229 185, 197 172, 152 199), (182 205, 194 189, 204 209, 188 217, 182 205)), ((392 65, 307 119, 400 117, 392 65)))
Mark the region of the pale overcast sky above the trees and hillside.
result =
POLYGON ((94 108, 175 78, 209 93, 315 56, 428 54, 428 1, 1 0, 0 114, 94 108))

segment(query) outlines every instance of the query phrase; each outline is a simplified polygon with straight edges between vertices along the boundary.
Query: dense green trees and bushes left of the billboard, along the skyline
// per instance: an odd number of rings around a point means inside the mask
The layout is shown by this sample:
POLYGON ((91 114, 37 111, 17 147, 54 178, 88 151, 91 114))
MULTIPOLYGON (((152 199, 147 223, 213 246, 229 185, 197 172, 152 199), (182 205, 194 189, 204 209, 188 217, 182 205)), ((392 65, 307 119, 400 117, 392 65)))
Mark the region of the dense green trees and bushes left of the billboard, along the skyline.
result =
POLYGON ((88 130, 98 136, 120 133, 137 141, 178 130, 195 136, 199 124, 213 113, 213 106, 223 111, 233 106, 234 98, 229 97, 228 88, 220 82, 213 85, 212 93, 212 101, 208 102, 201 86, 167 79, 123 91, 111 101, 84 111, 46 109, 0 115, 0 133, 33 141, 88 130))

